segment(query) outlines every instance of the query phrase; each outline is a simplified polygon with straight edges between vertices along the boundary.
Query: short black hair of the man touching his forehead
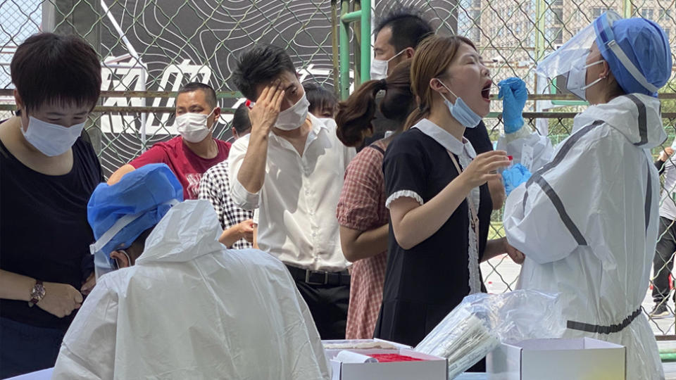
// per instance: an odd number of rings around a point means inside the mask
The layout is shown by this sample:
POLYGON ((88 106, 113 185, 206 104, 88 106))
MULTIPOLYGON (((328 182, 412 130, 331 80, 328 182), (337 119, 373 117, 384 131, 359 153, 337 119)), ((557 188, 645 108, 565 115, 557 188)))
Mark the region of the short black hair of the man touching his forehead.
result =
POLYGON ((232 72, 235 87, 246 99, 256 101, 256 87, 288 71, 295 73, 294 63, 279 46, 257 44, 239 57, 232 72))

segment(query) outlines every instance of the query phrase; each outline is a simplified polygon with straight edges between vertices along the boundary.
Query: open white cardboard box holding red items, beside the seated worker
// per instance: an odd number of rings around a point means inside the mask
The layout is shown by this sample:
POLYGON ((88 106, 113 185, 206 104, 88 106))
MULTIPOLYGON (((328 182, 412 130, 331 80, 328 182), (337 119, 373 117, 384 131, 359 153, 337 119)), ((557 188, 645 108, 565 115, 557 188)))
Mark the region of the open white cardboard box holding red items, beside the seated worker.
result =
MULTIPOLYGON (((380 341, 365 340, 365 341, 380 341)), ((330 343, 332 341, 325 341, 330 343)), ((411 357, 418 357, 423 361, 417 362, 387 362, 387 363, 342 363, 334 358, 340 350, 325 350, 327 358, 331 362, 333 372, 332 380, 446 380, 446 359, 443 357, 426 355, 413 351, 410 346, 399 343, 391 343, 394 349, 380 348, 350 349, 363 355, 377 353, 399 353, 411 357)))

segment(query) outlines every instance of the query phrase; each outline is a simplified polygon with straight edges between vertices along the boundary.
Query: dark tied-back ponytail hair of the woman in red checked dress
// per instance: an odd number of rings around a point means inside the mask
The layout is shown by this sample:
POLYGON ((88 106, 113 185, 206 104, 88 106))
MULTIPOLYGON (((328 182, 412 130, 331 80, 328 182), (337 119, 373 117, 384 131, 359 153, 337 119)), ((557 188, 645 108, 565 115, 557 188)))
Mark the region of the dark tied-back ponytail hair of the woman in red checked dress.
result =
POLYGON ((346 101, 338 103, 336 134, 346 146, 359 146, 364 136, 373 134, 375 96, 385 91, 380 101, 380 111, 401 129, 406 116, 414 106, 411 93, 411 60, 396 65, 384 80, 364 82, 346 101))

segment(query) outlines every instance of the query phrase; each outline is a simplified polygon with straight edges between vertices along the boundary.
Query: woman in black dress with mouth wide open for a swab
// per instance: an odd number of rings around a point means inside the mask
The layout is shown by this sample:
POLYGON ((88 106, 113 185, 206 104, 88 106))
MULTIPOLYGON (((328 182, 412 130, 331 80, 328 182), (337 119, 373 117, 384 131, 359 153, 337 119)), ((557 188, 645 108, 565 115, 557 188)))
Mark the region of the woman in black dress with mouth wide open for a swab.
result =
POLYGON ((491 84, 468 39, 433 36, 415 52, 419 105, 383 163, 391 221, 378 338, 417 345, 463 297, 484 289, 480 261, 502 253, 522 260, 504 239, 487 241, 486 182, 509 165, 506 153, 477 156, 463 138, 488 114, 491 84))

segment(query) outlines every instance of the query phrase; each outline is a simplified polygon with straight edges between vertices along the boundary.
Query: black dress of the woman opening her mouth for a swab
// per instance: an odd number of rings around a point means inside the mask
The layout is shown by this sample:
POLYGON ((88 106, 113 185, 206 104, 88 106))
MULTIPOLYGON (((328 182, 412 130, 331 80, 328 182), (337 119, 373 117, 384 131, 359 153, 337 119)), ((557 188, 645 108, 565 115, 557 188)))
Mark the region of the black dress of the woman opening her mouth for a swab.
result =
MULTIPOLYGON (((383 170, 388 197, 396 191, 410 190, 425 203, 458 176, 446 148, 416 128, 403 132, 389 144, 383 170)), ((486 247, 492 208, 488 186, 484 184, 480 186, 478 211, 480 258, 486 247)), ((390 224, 377 338, 416 346, 468 295, 469 223, 467 201, 463 201, 437 232, 408 250, 396 242, 390 224)))

